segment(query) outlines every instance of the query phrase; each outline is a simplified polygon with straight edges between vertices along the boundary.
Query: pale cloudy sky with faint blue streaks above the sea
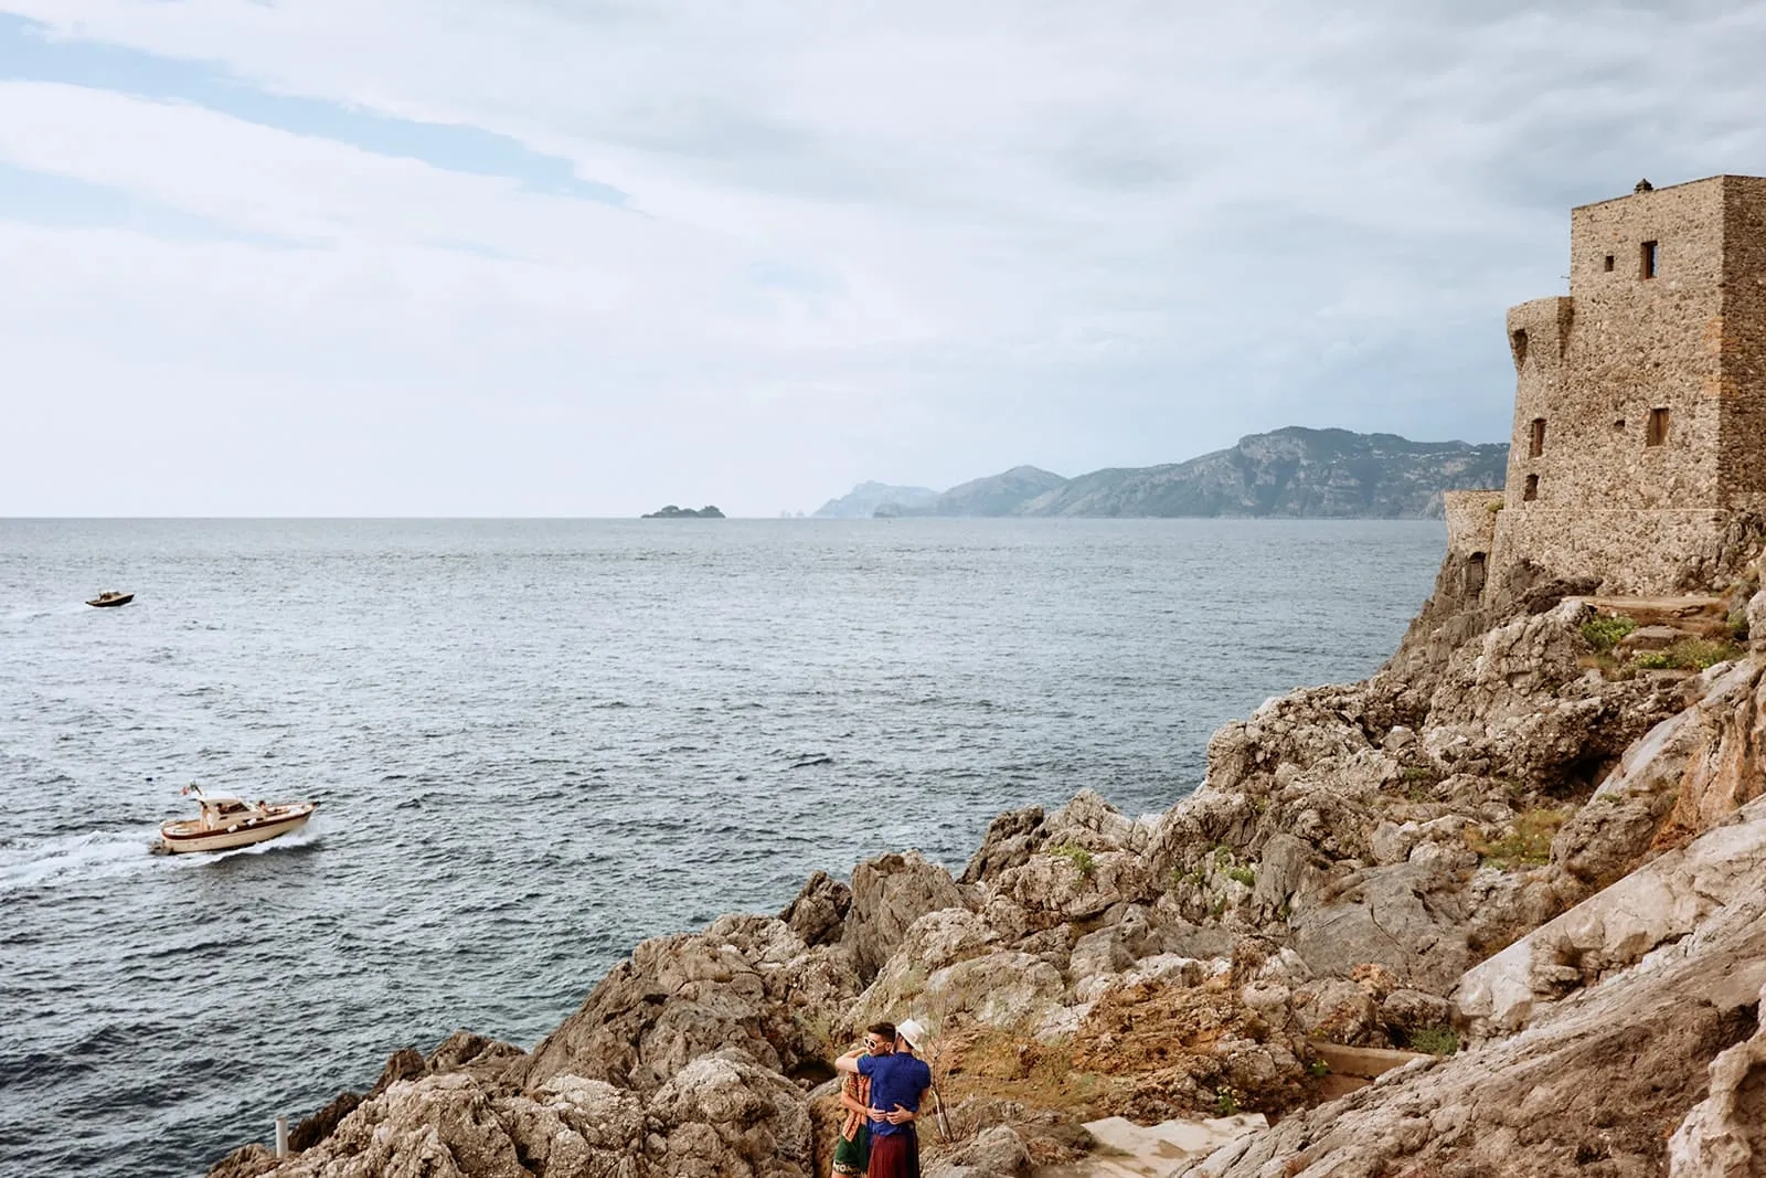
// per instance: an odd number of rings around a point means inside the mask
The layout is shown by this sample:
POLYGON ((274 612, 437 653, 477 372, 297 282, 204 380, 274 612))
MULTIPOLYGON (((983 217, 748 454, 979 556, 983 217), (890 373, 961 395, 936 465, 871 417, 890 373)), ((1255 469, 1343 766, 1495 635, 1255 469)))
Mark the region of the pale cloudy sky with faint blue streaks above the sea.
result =
POLYGON ((1506 440, 1766 4, 0 0, 0 516, 811 510, 1506 440))

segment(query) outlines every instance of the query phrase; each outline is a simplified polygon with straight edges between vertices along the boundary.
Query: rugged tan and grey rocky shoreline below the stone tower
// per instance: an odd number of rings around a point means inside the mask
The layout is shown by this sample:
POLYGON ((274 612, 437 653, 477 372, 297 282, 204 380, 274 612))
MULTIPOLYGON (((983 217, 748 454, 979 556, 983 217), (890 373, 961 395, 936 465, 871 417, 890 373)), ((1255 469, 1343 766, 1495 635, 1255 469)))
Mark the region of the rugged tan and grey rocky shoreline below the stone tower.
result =
POLYGON ((1450 555, 1386 668, 1227 724, 1164 814, 1081 793, 957 878, 818 872, 645 941, 533 1051, 401 1051, 210 1174, 826 1174, 828 1061, 908 1014, 929 1178, 1766 1173, 1761 535, 1688 585, 1736 643, 1702 671, 1618 661, 1595 585, 1450 555), (1356 1086, 1340 1047, 1413 1054, 1356 1086), (1273 1123, 1158 1171, 1083 1129, 1241 1113, 1273 1123))

